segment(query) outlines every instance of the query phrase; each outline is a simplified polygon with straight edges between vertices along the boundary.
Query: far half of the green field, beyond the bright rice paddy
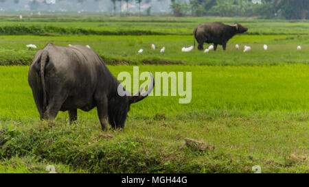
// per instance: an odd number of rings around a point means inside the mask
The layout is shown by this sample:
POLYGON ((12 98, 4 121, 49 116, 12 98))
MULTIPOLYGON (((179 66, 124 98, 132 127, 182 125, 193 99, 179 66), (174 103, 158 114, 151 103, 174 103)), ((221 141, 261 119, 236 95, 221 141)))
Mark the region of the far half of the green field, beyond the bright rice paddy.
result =
POLYGON ((41 49, 47 42, 64 46, 90 45, 104 58, 106 64, 308 64, 309 59, 308 21, 73 15, 25 15, 20 20, 18 16, 12 15, 0 17, 0 25, 1 65, 30 64, 36 50, 29 51, 25 45, 33 43, 41 49), (197 50, 182 53, 182 47, 193 45, 193 29, 198 23, 206 21, 242 23, 249 28, 249 32, 232 38, 225 52, 219 47, 216 53, 211 51, 203 54, 197 50), (157 50, 150 50, 152 43, 157 45, 157 50), (255 52, 243 54, 242 50, 236 51, 236 43, 241 49, 244 45, 250 45, 255 52), (262 49, 264 44, 269 45, 268 51, 262 49), (303 50, 297 51, 298 45, 303 50), (166 49, 163 54, 159 53, 161 47, 166 49), (139 49, 144 49, 144 53, 137 55, 139 49))

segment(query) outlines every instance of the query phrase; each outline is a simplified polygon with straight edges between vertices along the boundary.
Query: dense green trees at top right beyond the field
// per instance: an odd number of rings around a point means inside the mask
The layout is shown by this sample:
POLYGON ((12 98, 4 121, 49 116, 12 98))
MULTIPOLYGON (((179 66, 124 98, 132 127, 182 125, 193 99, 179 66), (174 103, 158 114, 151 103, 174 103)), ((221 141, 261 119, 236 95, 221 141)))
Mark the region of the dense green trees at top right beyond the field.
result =
POLYGON ((174 16, 261 16, 263 18, 308 18, 308 0, 171 0, 174 16))

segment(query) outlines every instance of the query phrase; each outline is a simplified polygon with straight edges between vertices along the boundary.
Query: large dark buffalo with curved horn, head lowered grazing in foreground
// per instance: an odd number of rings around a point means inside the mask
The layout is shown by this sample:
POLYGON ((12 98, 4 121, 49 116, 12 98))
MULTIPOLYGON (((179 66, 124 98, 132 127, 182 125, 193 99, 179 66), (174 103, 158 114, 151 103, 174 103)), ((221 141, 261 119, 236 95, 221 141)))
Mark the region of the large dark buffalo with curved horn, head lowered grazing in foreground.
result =
POLYGON ((92 49, 48 44, 36 53, 28 82, 41 119, 55 119, 59 110, 69 110, 72 123, 78 108, 89 111, 97 107, 102 129, 106 130, 107 117, 113 128, 124 127, 130 104, 152 91, 154 78, 150 75, 149 89, 130 95, 92 49), (119 94, 118 89, 125 94, 119 94))

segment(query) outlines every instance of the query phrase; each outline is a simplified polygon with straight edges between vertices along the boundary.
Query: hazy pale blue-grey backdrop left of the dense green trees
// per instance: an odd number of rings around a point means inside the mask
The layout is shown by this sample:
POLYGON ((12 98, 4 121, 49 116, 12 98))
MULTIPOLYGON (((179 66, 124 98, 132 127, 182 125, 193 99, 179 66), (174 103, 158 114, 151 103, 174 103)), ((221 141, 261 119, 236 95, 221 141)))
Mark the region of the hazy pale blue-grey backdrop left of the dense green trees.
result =
MULTIPOLYGON (((6 0, 0 2, 0 10, 55 10, 55 11, 89 11, 89 12, 112 12, 113 3, 111 0, 85 0, 84 3, 78 3, 78 0, 56 0, 55 4, 47 5, 45 0, 36 0, 37 5, 31 5, 30 1, 34 0, 19 0, 19 3, 14 3, 14 0, 6 0)), ((122 11, 126 11, 126 2, 122 1, 122 11)), ((129 1, 129 12, 138 12, 138 4, 129 1)), ((151 12, 170 12, 170 0, 144 0, 141 3, 141 11, 151 6, 151 12)), ((116 3, 117 12, 119 12, 119 1, 116 3)))

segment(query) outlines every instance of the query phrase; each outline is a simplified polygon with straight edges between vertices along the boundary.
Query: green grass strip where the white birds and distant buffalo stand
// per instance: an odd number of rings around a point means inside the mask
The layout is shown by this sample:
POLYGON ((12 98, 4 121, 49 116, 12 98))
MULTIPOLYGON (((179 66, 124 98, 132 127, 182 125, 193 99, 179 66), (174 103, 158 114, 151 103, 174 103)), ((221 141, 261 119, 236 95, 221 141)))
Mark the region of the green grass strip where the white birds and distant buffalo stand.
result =
POLYGON ((193 36, 1 36, 0 64, 30 64, 37 50, 29 50, 26 45, 35 44, 42 49, 47 42, 63 46, 90 45, 106 64, 308 64, 308 39, 308 36, 290 35, 235 36, 227 44, 227 51, 218 46, 217 51, 209 53, 198 50, 183 53, 182 47, 193 45, 193 36), (157 49, 150 48, 152 43, 157 49), (236 43, 240 45, 240 50, 235 49, 236 43), (263 49, 264 44, 268 45, 267 51, 263 49), (251 46, 252 50, 243 53, 244 45, 251 46), (297 50, 298 45, 302 50, 297 50), (160 53, 162 47, 165 47, 163 54, 160 53), (144 52, 137 53, 139 49, 144 49, 144 52))

